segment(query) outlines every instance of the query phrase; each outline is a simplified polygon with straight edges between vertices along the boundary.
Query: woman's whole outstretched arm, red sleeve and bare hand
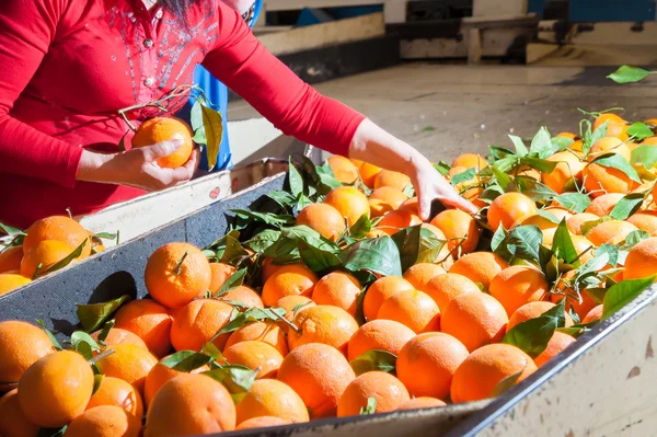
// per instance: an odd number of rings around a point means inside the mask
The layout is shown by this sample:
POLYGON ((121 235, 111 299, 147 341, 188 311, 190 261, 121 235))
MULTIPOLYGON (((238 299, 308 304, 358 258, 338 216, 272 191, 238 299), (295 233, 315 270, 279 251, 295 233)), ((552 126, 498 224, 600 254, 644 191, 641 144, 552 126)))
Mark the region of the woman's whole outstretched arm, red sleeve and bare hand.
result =
POLYGON ((417 150, 299 79, 257 42, 237 12, 219 2, 217 18, 220 34, 204 66, 284 134, 407 174, 418 193, 423 219, 434 199, 476 210, 417 150))

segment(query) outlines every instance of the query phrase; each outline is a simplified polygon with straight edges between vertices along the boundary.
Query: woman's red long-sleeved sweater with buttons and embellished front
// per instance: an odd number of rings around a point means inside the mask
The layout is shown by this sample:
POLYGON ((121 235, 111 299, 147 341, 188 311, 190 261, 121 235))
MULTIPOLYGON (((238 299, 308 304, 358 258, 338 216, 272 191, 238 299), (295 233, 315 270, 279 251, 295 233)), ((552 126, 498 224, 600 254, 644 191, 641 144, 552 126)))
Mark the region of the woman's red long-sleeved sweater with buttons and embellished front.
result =
POLYGON ((141 0, 0 1, 0 221, 24 228, 143 194, 77 182, 82 148, 117 150, 128 130, 117 111, 191 84, 197 64, 285 134, 346 154, 364 117, 303 83, 220 0, 200 3, 185 24, 141 0))

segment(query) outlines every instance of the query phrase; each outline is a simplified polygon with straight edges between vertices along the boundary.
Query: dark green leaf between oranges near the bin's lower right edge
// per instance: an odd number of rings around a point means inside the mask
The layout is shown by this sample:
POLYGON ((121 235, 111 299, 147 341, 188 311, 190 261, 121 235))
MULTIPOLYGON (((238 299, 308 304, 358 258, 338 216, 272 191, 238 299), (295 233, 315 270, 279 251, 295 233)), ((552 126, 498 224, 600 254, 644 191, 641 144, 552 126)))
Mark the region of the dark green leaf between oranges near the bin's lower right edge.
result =
POLYGON ((557 327, 565 325, 565 299, 535 319, 518 323, 502 343, 514 345, 532 358, 541 355, 557 327))

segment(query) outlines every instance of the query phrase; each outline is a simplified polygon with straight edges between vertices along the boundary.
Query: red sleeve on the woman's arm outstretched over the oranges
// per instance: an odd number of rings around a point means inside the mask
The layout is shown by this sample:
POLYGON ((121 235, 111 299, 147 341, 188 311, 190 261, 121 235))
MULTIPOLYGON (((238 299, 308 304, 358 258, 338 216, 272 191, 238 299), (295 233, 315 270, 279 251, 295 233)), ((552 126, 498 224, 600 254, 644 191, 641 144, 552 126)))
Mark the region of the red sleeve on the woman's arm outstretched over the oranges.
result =
POLYGON ((239 14, 220 4, 219 37, 203 65, 284 134, 346 156, 365 117, 321 95, 258 43, 239 14))

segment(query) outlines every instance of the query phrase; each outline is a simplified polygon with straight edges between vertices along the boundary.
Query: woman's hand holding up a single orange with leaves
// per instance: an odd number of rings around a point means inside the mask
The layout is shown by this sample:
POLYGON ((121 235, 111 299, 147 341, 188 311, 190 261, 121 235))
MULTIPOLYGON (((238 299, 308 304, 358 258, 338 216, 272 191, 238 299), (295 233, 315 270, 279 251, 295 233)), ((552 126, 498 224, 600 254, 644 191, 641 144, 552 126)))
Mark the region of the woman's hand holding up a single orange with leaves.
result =
POLYGON ((157 145, 119 153, 99 153, 84 150, 78 170, 79 181, 134 186, 146 191, 160 191, 184 184, 194 176, 198 166, 198 151, 183 166, 163 169, 158 159, 170 156, 182 146, 181 140, 162 141, 157 145))

